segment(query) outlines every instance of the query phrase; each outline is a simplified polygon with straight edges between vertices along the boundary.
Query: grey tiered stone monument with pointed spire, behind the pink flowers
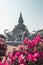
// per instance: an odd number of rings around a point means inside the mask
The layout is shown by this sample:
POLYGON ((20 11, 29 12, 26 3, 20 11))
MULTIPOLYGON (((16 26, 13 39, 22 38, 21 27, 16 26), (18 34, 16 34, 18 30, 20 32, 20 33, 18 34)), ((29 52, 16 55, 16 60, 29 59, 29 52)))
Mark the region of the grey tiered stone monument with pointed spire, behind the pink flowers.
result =
POLYGON ((30 35, 30 32, 24 24, 22 13, 20 13, 18 24, 14 29, 10 32, 6 29, 4 33, 6 34, 6 41, 13 41, 15 44, 16 42, 22 42, 25 37, 30 35))

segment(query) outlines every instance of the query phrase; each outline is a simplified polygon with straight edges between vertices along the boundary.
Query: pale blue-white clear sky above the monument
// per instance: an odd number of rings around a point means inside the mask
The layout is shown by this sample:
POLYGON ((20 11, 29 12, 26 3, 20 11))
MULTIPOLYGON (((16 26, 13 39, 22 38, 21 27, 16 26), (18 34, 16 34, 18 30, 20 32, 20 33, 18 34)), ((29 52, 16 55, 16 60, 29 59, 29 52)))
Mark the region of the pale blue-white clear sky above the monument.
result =
POLYGON ((0 0, 0 34, 13 30, 20 12, 30 32, 43 29, 43 0, 0 0))

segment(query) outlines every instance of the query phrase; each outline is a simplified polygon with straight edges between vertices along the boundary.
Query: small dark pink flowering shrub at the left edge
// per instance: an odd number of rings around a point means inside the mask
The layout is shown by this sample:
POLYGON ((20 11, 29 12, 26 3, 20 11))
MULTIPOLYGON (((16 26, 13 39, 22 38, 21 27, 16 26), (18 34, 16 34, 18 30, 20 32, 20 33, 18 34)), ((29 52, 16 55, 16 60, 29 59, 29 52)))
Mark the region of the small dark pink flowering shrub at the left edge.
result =
POLYGON ((0 38, 0 60, 2 60, 3 56, 6 55, 7 45, 5 40, 0 38))

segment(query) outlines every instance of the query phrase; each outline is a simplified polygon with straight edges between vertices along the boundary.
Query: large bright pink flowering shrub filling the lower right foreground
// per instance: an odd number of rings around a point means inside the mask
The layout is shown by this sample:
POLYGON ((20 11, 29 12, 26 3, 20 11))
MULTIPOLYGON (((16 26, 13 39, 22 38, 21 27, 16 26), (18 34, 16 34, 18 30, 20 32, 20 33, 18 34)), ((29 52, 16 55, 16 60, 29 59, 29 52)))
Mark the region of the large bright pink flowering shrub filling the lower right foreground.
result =
POLYGON ((33 40, 25 38, 23 44, 14 46, 0 65, 43 65, 43 40, 38 34, 33 40))

